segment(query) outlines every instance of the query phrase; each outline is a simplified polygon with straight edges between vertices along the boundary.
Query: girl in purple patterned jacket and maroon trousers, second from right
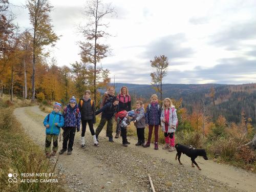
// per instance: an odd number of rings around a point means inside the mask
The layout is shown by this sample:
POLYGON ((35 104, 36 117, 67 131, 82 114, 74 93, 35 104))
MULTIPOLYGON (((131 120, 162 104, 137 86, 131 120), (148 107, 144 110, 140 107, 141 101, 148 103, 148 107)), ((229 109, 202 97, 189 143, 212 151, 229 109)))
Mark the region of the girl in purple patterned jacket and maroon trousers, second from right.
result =
POLYGON ((147 143, 144 147, 149 147, 151 142, 151 137, 153 133, 153 128, 155 127, 155 150, 158 150, 158 129, 161 123, 161 107, 158 104, 158 97, 156 94, 151 96, 151 103, 147 105, 145 120, 146 125, 148 125, 148 138, 147 143))

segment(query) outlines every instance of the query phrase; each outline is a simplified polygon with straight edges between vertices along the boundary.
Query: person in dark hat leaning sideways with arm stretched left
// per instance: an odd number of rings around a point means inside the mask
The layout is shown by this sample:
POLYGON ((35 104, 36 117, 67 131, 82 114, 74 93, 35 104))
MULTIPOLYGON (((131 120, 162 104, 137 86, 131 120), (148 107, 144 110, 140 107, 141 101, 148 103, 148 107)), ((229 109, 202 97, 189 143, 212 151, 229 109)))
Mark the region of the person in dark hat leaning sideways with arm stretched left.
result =
POLYGON ((106 125, 106 136, 109 137, 110 142, 114 142, 113 141, 113 136, 112 136, 112 133, 113 133, 113 117, 115 116, 115 113, 117 112, 118 102, 119 102, 118 98, 113 97, 112 102, 106 103, 103 106, 103 108, 96 111, 96 113, 95 113, 96 115, 102 113, 100 123, 99 123, 99 125, 96 129, 96 138, 98 138, 99 133, 101 132, 105 123, 108 122, 108 124, 106 125))

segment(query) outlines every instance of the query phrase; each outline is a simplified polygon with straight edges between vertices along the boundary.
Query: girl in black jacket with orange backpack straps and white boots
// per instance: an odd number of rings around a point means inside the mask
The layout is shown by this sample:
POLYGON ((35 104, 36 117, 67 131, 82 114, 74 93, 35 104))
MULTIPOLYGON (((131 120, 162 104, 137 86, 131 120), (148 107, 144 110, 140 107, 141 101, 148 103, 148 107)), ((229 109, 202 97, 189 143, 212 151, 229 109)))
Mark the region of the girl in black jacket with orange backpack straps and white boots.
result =
POLYGON ((98 141, 95 136, 95 132, 93 129, 93 124, 96 122, 95 118, 95 106, 93 100, 91 97, 91 91, 86 90, 84 92, 84 96, 79 100, 78 108, 81 112, 81 121, 82 121, 82 135, 81 135, 81 147, 86 147, 85 140, 84 140, 84 134, 86 133, 86 124, 89 124, 89 128, 91 131, 91 134, 93 136, 93 143, 95 146, 99 146, 98 141))

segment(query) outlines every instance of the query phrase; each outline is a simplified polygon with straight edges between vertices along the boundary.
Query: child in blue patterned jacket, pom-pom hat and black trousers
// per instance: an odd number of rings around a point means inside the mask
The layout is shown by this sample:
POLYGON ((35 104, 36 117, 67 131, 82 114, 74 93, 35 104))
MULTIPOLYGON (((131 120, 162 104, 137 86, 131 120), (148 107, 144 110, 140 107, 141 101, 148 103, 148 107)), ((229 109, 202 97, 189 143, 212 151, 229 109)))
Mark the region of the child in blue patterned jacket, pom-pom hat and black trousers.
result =
POLYGON ((68 155, 71 155, 75 133, 76 131, 80 131, 81 120, 81 113, 78 109, 76 98, 74 96, 69 100, 69 104, 65 107, 63 116, 65 119, 65 126, 63 127, 62 150, 60 150, 59 154, 61 155, 68 150, 68 155))

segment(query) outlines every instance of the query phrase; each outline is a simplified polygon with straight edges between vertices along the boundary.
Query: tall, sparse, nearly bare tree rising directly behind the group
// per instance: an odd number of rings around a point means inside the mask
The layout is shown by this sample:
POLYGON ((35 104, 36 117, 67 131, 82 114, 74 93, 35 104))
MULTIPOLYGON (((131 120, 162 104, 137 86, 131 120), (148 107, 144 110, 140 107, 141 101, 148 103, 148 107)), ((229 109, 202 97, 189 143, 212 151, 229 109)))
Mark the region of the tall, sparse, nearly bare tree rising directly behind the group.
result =
POLYGON ((94 100, 97 100, 97 62, 104 57, 109 52, 109 46, 104 44, 99 44, 99 39, 102 37, 108 37, 110 34, 105 30, 109 27, 109 23, 104 23, 102 19, 108 15, 114 13, 114 8, 111 4, 103 4, 100 0, 88 1, 86 9, 84 10, 84 15, 88 19, 86 26, 80 27, 81 32, 84 37, 86 37, 86 42, 78 42, 81 48, 81 60, 83 63, 92 63, 94 65, 94 100))

